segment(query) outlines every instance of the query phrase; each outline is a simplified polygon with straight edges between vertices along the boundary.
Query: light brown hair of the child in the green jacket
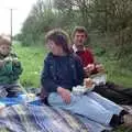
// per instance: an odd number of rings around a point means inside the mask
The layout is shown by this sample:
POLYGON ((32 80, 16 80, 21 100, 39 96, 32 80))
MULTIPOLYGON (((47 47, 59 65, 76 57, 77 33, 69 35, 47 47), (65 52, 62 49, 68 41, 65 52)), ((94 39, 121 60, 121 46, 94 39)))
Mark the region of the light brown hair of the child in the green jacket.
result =
POLYGON ((11 40, 8 35, 0 35, 0 45, 11 45, 11 40))

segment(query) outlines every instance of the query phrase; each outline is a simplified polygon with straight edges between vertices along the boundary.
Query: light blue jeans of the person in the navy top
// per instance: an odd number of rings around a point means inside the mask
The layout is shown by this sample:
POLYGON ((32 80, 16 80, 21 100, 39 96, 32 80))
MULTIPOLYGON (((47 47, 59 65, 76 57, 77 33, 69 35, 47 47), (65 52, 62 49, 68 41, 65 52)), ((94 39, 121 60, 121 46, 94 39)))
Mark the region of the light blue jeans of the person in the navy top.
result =
POLYGON ((81 96, 72 94, 72 101, 68 105, 57 92, 52 92, 48 96, 48 103, 103 125, 109 125, 113 114, 119 114, 123 110, 120 106, 92 91, 81 96))

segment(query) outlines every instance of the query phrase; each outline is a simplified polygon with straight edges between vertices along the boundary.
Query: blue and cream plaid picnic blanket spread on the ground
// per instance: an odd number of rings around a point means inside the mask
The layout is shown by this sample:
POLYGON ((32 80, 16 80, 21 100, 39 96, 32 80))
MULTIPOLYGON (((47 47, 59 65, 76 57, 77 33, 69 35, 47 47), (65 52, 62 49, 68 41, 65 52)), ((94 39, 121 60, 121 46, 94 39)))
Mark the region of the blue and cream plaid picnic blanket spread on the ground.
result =
POLYGON ((110 129, 85 117, 47 107, 37 98, 30 96, 33 101, 28 103, 24 100, 24 95, 0 99, 0 106, 10 106, 0 110, 0 132, 102 132, 110 129))

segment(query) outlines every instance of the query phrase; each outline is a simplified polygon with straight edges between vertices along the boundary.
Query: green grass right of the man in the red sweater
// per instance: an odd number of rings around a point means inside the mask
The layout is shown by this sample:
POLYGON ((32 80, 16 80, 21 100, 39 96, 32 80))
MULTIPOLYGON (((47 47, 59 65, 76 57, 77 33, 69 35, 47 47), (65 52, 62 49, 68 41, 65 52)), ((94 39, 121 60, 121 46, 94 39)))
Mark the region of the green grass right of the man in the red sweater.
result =
POLYGON ((98 57, 97 59, 105 65, 108 80, 128 88, 132 88, 132 72, 130 69, 120 67, 118 62, 110 59, 108 61, 105 56, 98 57))

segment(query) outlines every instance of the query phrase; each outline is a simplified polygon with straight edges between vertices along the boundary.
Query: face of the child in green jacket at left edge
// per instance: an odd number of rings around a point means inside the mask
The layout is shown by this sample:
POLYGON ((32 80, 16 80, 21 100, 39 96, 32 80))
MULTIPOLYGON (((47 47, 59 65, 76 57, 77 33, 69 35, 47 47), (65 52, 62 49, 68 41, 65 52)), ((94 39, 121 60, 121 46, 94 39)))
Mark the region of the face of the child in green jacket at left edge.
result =
POLYGON ((10 52, 11 52, 10 45, 7 44, 0 45, 0 54, 8 55, 10 52))

